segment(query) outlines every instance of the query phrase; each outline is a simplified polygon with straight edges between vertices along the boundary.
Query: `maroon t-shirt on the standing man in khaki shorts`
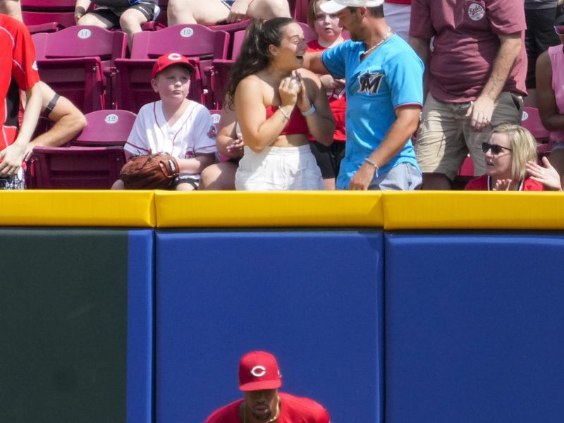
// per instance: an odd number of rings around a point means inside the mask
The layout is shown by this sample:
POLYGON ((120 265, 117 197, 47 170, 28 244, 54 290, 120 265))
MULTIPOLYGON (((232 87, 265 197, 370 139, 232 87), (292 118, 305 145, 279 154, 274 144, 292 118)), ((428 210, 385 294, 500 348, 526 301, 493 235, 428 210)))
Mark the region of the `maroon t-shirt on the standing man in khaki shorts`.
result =
MULTIPOLYGON (((525 35, 525 10, 517 0, 412 0, 410 36, 433 41, 429 91, 443 102, 478 97, 498 53, 498 35, 525 35)), ((503 91, 526 94, 525 45, 503 91)))

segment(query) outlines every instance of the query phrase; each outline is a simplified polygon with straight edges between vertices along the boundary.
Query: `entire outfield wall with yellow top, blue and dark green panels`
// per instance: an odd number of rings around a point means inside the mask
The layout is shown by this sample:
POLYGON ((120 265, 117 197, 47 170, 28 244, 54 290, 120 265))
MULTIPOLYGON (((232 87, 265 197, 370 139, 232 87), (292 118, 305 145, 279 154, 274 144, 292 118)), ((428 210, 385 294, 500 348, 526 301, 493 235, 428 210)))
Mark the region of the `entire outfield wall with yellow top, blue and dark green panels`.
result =
POLYGON ((564 419, 559 194, 0 204, 0 421, 202 422, 252 349, 333 423, 564 419))

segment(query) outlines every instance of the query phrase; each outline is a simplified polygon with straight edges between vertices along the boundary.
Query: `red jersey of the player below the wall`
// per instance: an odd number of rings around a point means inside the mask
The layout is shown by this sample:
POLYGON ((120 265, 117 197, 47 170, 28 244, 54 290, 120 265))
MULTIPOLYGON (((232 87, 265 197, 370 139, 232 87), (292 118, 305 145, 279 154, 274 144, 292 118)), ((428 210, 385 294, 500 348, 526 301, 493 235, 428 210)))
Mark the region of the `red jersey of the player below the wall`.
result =
MULTIPOLYGON (((309 398, 299 398, 289 393, 278 393, 280 416, 276 423, 330 423, 329 413, 309 398)), ((243 400, 221 407, 209 416, 205 423, 241 423, 238 411, 243 400)))

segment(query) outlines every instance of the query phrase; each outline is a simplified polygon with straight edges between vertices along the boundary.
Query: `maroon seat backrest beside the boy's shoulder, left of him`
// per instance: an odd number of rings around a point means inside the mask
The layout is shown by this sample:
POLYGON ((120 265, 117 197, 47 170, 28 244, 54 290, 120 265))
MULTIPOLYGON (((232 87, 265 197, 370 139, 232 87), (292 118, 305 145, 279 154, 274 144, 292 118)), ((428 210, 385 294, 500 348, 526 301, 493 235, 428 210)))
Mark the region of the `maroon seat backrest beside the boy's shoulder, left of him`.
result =
POLYGON ((71 145, 82 147, 106 147, 119 145, 123 147, 128 140, 135 115, 127 110, 99 110, 86 114, 86 126, 71 142, 71 145))

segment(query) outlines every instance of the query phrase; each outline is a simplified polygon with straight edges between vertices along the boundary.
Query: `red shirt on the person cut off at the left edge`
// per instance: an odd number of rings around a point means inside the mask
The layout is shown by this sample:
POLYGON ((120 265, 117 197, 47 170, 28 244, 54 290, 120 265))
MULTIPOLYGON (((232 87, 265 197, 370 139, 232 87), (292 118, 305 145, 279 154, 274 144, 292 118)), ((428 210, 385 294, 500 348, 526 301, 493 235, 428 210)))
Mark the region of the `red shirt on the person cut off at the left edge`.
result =
MULTIPOLYGON (((8 88, 11 80, 16 81, 20 90, 29 90, 39 81, 37 64, 35 63, 35 47, 30 32, 19 20, 0 14, 0 150, 8 147, 16 140, 18 133, 16 122, 6 123, 6 102, 18 104, 18 99, 8 99, 8 88)), ((13 90, 12 90, 13 92, 13 90)), ((16 90, 16 97, 19 92, 16 90)), ((17 111, 17 109, 16 109, 17 111)))

